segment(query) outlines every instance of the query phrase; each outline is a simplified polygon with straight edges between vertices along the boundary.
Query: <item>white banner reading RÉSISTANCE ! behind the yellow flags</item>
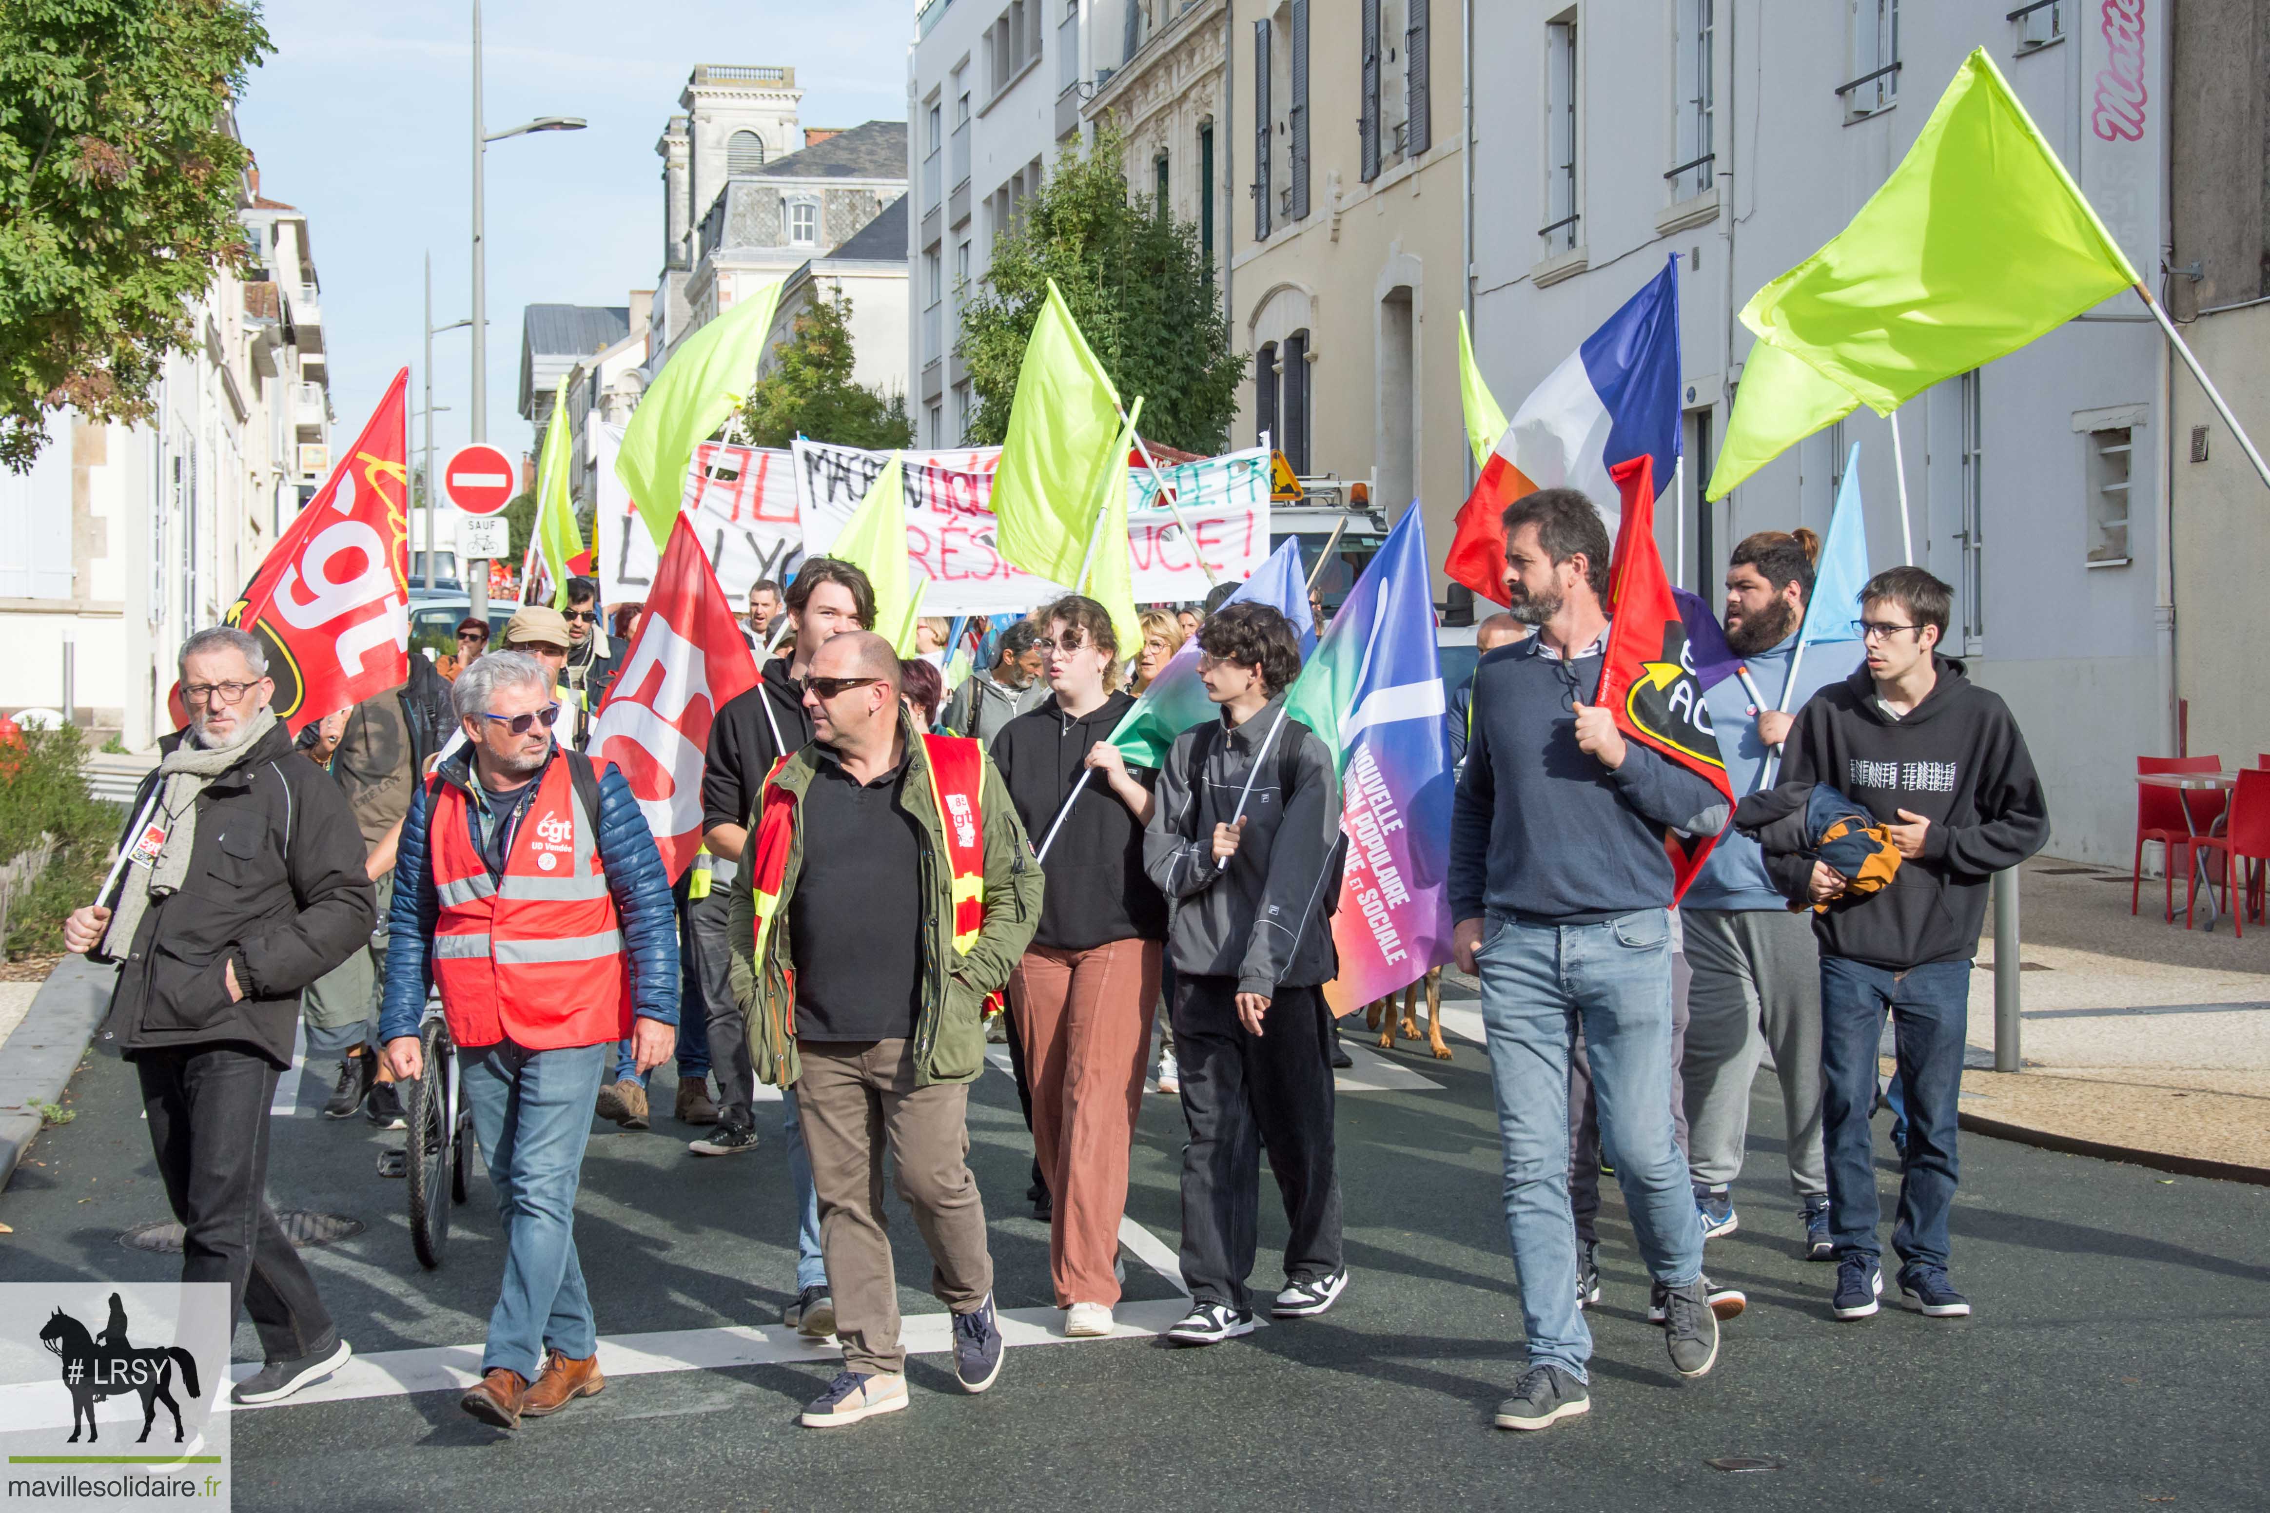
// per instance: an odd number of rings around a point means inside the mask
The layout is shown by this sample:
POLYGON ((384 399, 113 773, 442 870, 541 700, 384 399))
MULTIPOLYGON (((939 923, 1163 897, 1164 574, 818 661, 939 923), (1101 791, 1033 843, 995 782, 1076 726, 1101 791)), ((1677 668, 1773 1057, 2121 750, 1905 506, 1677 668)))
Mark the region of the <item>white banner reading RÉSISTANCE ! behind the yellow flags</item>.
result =
MULTIPOLYGON (((867 497, 888 451, 797 440, 797 495, 806 556, 829 544, 867 497)), ((928 574, 922 608, 931 615, 1001 615, 1031 610, 1062 592, 1056 583, 1010 567, 994 551, 992 474, 999 447, 908 451, 906 549, 928 574)), ((1269 454, 1233 451, 1167 467, 1167 488, 1183 522, 1158 499, 1149 470, 1128 485, 1128 553, 1137 603, 1180 603, 1219 583, 1251 578, 1269 556, 1269 454), (1183 524, 1189 526, 1189 538, 1183 524), (1194 538, 1194 542, 1192 542, 1194 538), (1203 553, 1205 567, 1199 565, 1203 553)))

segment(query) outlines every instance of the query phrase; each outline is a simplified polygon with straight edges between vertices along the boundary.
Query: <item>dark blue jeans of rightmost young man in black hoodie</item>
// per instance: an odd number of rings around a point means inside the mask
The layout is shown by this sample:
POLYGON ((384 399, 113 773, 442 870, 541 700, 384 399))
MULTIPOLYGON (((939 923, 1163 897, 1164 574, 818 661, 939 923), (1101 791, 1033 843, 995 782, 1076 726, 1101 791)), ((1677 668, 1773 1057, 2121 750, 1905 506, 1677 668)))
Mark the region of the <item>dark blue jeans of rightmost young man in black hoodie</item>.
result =
POLYGON ((1932 962, 1895 973, 1821 957, 1821 1143, 1830 1168, 1830 1232, 1839 1261, 1882 1254, 1868 1114, 1875 1109, 1875 1048, 1886 1009, 1900 1066, 1891 1082, 1898 1093, 1893 1107, 1907 1121, 1891 1248, 1909 1266, 1945 1266, 1970 962, 1932 962))

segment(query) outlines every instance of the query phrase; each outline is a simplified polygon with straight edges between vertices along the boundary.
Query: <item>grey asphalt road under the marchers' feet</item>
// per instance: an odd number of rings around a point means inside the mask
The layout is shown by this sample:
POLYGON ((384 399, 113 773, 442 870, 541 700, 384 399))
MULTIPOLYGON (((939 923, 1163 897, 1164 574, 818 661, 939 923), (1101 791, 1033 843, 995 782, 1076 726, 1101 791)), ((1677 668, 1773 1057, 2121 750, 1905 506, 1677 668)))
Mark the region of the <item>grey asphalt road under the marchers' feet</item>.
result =
MULTIPOLYGON (((1491 1429, 1519 1372, 1521 1316, 1498 1216, 1496 1130, 1482 1053, 1385 1057, 1432 1087, 1339 1102, 1346 1300, 1210 1350, 1155 1338, 1031 1345, 965 1397, 944 1356, 910 1366, 906 1413, 844 1431, 794 1425, 833 1375, 817 1359, 617 1375, 599 1397, 515 1436, 465 1418, 454 1393, 295 1402, 234 1422, 238 1508, 2152 1508, 2270 1504, 2263 1322, 2270 1191, 2168 1180, 2136 1166, 1964 1136, 1954 1275, 1968 1322, 1886 1307, 1839 1325, 1832 1268, 1798 1257, 1780 1107, 1759 1082, 1741 1232, 1709 1270, 1750 1311, 1718 1368, 1682 1384, 1646 1322, 1646 1275, 1609 1193, 1607 1295, 1594 1413, 1546 1434, 1491 1429), (1725 1456, 1775 1470, 1727 1472, 1725 1456)), ((1371 1082, 1403 1082, 1380 1075, 1371 1082)), ((402 1182, 375 1175, 397 1134, 300 1114, 275 1121, 272 1195, 361 1218, 311 1250, 356 1352, 481 1338, 502 1245, 486 1180, 459 1211, 447 1266, 411 1257, 402 1182)), ((91 1059, 77 1118, 50 1130, 0 1195, 0 1282, 166 1279, 177 1259, 116 1236, 166 1218, 132 1068, 91 1059)), ((779 1105, 770 1105, 776 1118, 779 1105)), ((670 1118, 649 1134, 599 1125, 577 1236, 608 1338, 776 1325, 792 1291, 792 1211, 779 1136, 738 1159, 692 1159, 670 1118)), ((1006 1075, 972 1102, 972 1161, 992 1211, 1003 1309, 1049 1302, 1046 1229, 1026 1216, 1026 1136, 1006 1075)), ((1144 1105, 1130 1218, 1171 1250, 1180 1111, 1144 1105)), ((1895 1184, 1880 1155, 1886 1193, 1895 1184)), ((1255 1282, 1278 1286, 1283 1216, 1264 1193, 1255 1282)), ((1886 1220, 1889 1234, 1889 1220, 1886 1220)), ((894 1223, 901 1282, 928 1277, 894 1223)), ((1128 1304, 1171 1307, 1174 1284, 1130 1261, 1128 1304)), ((903 1288, 910 1316, 938 1313, 903 1288)), ((724 1336, 688 1334, 681 1341, 724 1336)), ((238 1356, 254 1359, 250 1327, 238 1356)), ((415 1356, 397 1356, 415 1359, 415 1356)))

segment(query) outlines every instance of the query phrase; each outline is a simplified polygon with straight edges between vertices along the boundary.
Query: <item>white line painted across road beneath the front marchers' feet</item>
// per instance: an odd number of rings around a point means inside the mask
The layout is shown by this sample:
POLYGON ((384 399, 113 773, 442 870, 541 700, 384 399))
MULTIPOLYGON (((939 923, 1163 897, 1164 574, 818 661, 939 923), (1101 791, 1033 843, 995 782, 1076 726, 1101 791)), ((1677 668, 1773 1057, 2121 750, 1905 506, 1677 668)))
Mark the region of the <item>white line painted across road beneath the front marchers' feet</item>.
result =
MULTIPOLYGON (((1183 1298, 1158 1302, 1124 1302, 1112 1311, 1112 1332, 1094 1338, 1067 1338, 1062 1309, 1003 1309, 1001 1343, 1022 1345, 1092 1345, 1101 1341, 1140 1341, 1165 1334, 1189 1309, 1183 1298)), ((899 1338, 908 1354, 947 1354, 953 1350, 949 1313, 917 1313, 901 1322, 899 1338)), ((842 1345, 813 1343, 785 1325, 731 1325, 722 1329, 670 1329, 663 1334, 617 1334, 599 1341, 599 1370, 608 1377, 649 1377, 676 1370, 733 1370, 740 1366, 779 1366, 799 1361, 840 1361, 842 1345)), ((259 1366, 238 1361, 232 1381, 243 1381, 259 1366)), ((411 1393, 463 1393, 481 1379, 481 1345, 438 1345, 429 1350, 384 1350, 347 1361, 336 1375, 286 1397, 263 1404, 293 1409, 313 1402, 356 1402, 363 1397, 404 1397, 411 1393)), ((245 1413, 247 1409, 232 1409, 245 1413)))

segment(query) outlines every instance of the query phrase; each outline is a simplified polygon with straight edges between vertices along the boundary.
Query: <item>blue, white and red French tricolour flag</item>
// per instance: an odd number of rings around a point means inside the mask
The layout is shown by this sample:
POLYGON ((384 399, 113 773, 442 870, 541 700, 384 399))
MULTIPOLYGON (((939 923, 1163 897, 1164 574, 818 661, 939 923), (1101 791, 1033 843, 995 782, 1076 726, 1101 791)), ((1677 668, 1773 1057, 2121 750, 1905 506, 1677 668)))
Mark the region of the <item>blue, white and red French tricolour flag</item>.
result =
MULTIPOLYGON (((1539 383, 1482 463, 1457 510, 1444 572, 1491 603, 1505 603, 1505 506, 1539 488, 1582 490, 1616 535, 1619 495, 1609 470, 1646 456, 1675 488, 1680 458, 1680 259, 1539 383)), ((1657 495, 1662 497, 1662 495, 1657 495)))

